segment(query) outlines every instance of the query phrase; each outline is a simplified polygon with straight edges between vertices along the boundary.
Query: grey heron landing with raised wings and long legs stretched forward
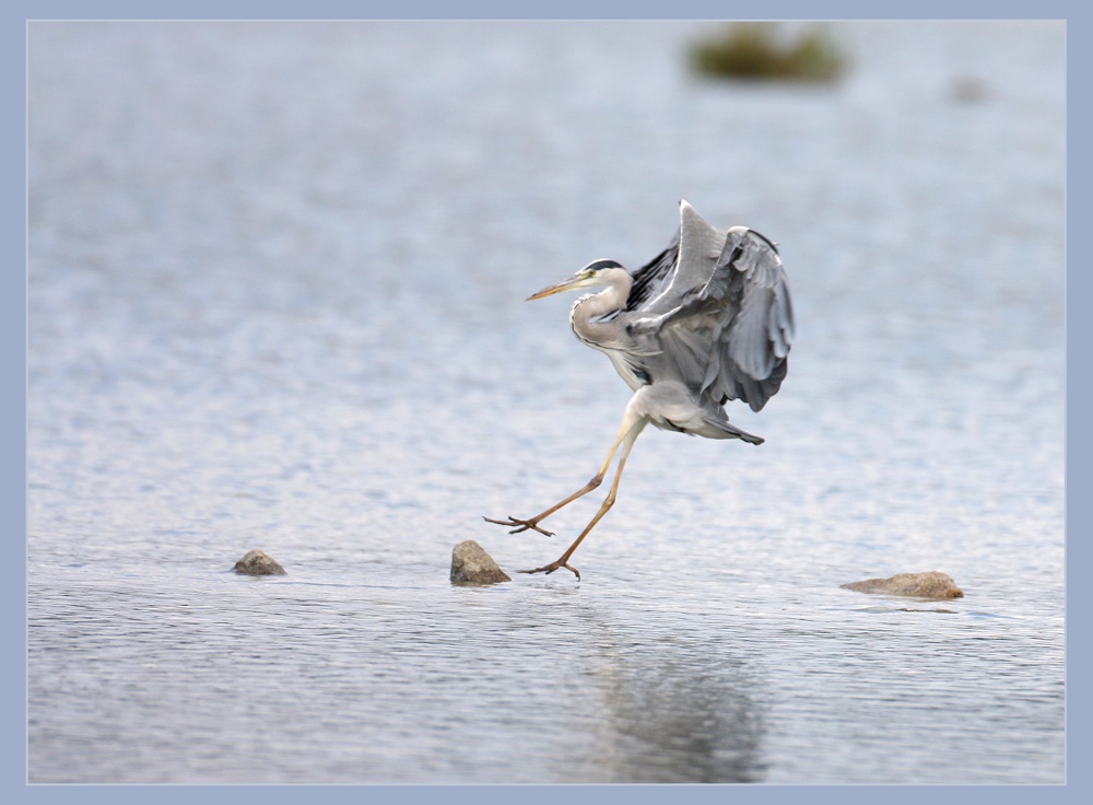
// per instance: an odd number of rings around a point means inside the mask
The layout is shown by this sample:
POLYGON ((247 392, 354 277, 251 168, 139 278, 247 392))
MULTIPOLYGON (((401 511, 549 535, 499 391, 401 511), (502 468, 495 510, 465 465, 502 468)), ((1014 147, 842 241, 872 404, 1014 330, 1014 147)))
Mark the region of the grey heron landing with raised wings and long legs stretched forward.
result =
POLYGON ((725 404, 766 405, 786 377, 794 341, 794 310, 778 246, 748 226, 719 230, 685 200, 671 243, 634 272, 612 259, 589 262, 568 279, 531 294, 601 287, 580 296, 569 324, 584 343, 606 353, 633 390, 607 458, 588 483, 532 517, 483 517, 509 534, 539 524, 602 483, 615 454, 619 465, 599 511, 554 562, 521 573, 550 574, 569 564, 577 546, 614 505, 623 468, 646 425, 706 439, 761 436, 729 422, 725 404))

